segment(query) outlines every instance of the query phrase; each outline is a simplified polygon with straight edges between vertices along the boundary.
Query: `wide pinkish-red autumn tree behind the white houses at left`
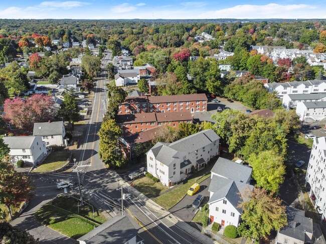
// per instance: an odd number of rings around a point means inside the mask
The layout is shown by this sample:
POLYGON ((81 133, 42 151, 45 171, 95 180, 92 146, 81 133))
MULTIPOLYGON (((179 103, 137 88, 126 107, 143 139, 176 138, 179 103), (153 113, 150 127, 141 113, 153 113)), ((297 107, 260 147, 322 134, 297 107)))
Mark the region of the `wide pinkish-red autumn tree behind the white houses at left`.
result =
POLYGON ((22 132, 32 131, 34 123, 54 120, 56 110, 51 96, 34 94, 25 101, 20 97, 4 102, 5 120, 22 132))

